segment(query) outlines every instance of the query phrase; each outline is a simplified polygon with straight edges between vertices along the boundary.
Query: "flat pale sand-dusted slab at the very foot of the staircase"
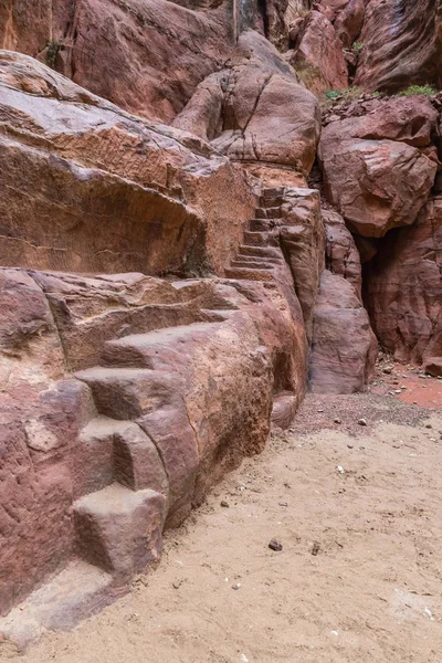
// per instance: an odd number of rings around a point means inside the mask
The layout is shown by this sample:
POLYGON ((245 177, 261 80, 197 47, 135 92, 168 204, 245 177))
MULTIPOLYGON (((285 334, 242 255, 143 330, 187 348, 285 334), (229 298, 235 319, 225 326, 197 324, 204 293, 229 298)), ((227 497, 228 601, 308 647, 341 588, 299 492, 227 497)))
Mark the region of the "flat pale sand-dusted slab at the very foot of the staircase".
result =
POLYGON ((110 573, 74 559, 0 619, 0 634, 23 651, 44 631, 73 629, 81 619, 98 612, 125 591, 124 586, 113 586, 110 573))

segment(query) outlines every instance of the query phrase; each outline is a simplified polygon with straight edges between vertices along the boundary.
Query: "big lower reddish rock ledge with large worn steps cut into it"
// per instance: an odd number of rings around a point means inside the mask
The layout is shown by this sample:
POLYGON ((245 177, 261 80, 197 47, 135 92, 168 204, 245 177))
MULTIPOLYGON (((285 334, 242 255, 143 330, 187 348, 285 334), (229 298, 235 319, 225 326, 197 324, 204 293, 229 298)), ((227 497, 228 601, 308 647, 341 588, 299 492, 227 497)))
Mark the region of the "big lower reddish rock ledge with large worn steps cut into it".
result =
MULTIPOLYGON (((263 448, 274 393, 296 408, 304 320, 293 284, 291 303, 277 282, 0 275, 1 612, 76 551, 92 593, 60 604, 72 621, 158 556, 166 515, 180 523, 263 448), (77 379, 63 379, 72 366, 77 379)), ((22 643, 40 633, 13 614, 1 629, 22 643)))

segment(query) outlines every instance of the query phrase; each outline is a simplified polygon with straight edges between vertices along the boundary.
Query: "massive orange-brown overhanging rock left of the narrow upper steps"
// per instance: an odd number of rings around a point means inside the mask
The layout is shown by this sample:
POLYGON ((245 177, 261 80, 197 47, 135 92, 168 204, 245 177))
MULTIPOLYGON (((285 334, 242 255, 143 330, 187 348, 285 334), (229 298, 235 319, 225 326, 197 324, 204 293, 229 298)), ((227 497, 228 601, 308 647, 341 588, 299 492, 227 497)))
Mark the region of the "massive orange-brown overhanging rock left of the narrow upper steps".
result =
POLYGON ((24 55, 0 53, 0 264, 222 274, 254 207, 225 158, 24 55))

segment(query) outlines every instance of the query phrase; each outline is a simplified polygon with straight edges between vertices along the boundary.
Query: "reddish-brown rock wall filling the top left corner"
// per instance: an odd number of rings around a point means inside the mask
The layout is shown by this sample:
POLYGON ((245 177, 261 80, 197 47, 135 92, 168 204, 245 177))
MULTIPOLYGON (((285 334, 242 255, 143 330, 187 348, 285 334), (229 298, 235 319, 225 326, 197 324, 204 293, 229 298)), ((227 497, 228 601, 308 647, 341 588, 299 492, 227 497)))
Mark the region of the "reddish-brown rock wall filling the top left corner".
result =
POLYGON ((39 56, 78 85, 150 119, 170 122, 233 46, 228 2, 208 11, 165 0, 28 4, 2 4, 2 48, 39 56))

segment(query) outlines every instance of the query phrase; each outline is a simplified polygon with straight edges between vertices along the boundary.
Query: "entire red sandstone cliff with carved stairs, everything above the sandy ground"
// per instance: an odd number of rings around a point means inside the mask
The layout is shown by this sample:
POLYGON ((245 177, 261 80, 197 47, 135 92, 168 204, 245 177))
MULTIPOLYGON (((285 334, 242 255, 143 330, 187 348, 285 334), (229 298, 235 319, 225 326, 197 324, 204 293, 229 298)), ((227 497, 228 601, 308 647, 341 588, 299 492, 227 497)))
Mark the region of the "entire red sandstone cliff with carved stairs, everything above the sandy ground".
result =
POLYGON ((3 639, 128 591, 306 389, 442 375, 440 14, 2 3, 3 639))

